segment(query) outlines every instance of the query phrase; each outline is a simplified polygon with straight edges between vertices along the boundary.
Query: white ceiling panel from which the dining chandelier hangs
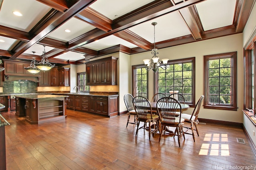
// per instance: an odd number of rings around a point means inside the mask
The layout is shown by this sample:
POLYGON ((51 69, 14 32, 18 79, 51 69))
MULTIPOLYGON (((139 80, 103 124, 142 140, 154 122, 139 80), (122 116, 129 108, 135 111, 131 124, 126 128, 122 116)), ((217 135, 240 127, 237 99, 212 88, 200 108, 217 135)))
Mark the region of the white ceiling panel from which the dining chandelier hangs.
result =
POLYGON ((172 12, 154 20, 141 23, 129 28, 129 30, 154 43, 154 26, 151 25, 152 22, 157 22, 155 26, 156 42, 191 34, 179 12, 172 12))

